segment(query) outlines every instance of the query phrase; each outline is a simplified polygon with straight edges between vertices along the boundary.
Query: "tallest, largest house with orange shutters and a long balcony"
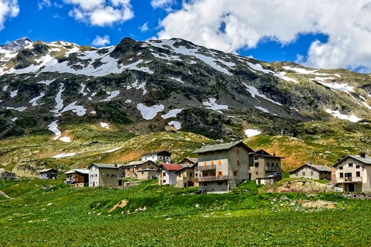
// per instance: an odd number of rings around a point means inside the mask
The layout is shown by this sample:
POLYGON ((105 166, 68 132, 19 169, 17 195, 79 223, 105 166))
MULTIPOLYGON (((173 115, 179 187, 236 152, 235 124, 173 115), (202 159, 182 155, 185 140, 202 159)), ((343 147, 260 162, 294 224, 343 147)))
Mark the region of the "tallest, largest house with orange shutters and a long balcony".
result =
POLYGON ((249 164, 254 152, 243 141, 203 145, 198 154, 198 176, 194 182, 206 191, 230 191, 249 180, 249 164))

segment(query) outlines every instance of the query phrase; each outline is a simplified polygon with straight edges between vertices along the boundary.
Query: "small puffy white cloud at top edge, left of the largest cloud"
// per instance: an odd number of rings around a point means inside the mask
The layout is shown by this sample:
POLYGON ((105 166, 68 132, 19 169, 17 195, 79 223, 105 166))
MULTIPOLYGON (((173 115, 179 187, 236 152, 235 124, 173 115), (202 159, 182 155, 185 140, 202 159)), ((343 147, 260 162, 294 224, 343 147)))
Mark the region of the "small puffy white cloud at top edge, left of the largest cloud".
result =
POLYGON ((63 0, 74 5, 69 16, 77 21, 95 26, 109 26, 123 23, 134 17, 130 0, 63 0))

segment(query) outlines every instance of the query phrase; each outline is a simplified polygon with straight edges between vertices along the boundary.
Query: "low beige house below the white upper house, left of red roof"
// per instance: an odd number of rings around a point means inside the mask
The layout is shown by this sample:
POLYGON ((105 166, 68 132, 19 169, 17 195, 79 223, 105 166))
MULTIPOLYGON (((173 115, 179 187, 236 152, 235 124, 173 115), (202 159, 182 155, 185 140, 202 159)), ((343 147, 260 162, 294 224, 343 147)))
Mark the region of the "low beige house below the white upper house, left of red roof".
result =
POLYGON ((122 165, 125 178, 149 180, 157 178, 157 165, 153 161, 131 161, 122 165))

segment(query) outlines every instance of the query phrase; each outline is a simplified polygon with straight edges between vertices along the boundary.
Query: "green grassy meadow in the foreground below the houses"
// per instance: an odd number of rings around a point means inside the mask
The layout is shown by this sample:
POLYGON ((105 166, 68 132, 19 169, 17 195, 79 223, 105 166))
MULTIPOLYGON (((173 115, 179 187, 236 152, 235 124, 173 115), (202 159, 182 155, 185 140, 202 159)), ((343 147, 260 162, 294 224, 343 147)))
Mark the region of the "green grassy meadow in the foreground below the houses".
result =
POLYGON ((371 202, 339 193, 195 195, 146 181, 129 189, 62 180, 0 182, 0 246, 370 246, 371 202), (332 209, 303 207, 324 201, 332 209), (126 206, 117 207, 119 202, 126 206))

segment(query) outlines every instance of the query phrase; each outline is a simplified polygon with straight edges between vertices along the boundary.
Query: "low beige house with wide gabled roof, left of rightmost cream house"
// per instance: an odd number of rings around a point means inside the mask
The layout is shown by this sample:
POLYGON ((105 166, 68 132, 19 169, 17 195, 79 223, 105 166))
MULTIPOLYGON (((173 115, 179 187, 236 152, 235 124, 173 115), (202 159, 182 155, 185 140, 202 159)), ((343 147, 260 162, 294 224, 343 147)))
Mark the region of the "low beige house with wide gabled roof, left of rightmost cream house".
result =
POLYGON ((292 171, 289 171, 290 178, 312 178, 321 180, 331 179, 331 168, 326 165, 313 165, 306 163, 292 171))

